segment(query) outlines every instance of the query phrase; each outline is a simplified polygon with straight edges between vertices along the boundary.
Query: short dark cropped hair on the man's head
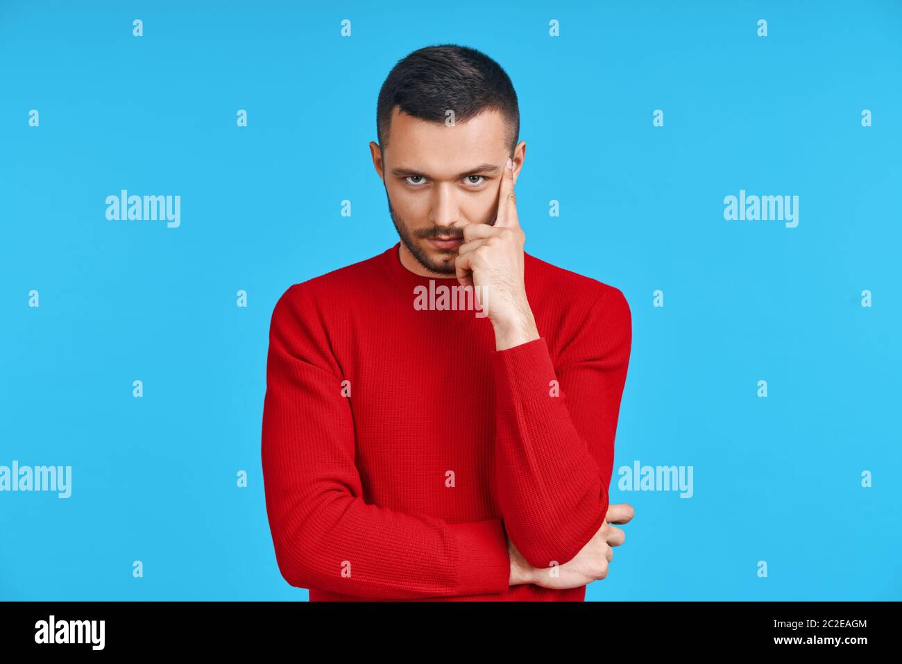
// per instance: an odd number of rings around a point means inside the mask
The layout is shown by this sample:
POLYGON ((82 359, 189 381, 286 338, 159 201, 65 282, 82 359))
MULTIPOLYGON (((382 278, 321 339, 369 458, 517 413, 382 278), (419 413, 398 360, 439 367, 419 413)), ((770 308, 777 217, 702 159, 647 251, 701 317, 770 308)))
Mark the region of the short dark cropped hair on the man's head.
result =
POLYGON ((448 109, 454 111, 455 122, 493 109, 501 112, 507 126, 511 156, 520 137, 520 106, 511 78, 495 60, 466 46, 427 46, 391 68, 376 105, 376 134, 382 148, 389 144, 395 106, 407 115, 441 123, 448 109))

